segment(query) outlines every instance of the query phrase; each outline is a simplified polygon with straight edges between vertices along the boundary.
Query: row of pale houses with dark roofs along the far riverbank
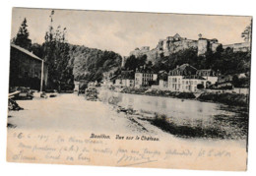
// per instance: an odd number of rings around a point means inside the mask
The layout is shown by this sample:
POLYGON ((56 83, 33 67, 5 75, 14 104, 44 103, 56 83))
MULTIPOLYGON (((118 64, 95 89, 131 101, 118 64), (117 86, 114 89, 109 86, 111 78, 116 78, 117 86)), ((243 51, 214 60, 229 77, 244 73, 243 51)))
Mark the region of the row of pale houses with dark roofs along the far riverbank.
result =
MULTIPOLYGON (((120 88, 151 87, 172 91, 197 91, 199 88, 208 88, 218 82, 215 71, 197 70, 189 64, 177 66, 169 73, 160 71, 154 73, 151 69, 141 68, 133 71, 123 71, 118 77, 110 79, 108 86, 120 88)), ((106 81, 105 81, 106 84, 106 81)))

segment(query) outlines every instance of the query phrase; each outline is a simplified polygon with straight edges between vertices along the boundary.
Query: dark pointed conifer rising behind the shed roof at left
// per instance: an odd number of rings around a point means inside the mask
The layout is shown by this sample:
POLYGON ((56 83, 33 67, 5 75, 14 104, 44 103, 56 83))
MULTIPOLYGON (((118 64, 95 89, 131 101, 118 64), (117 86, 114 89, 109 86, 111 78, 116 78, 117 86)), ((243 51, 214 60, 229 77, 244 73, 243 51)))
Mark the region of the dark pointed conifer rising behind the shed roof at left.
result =
POLYGON ((31 50, 32 40, 29 38, 30 32, 27 29, 27 19, 25 18, 16 37, 13 39, 14 44, 19 45, 25 49, 31 50))

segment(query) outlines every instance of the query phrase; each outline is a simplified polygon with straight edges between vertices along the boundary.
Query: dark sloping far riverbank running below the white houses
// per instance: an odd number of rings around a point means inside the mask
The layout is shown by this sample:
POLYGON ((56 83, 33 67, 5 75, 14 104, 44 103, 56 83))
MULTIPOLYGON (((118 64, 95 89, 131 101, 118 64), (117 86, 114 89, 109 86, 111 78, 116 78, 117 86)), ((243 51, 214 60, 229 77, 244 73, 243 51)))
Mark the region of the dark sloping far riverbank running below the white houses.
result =
POLYGON ((179 92, 151 88, 123 88, 122 93, 142 94, 151 96, 172 97, 181 99, 195 99, 205 102, 223 103, 232 106, 248 106, 248 95, 229 92, 201 92, 199 96, 193 92, 179 92))

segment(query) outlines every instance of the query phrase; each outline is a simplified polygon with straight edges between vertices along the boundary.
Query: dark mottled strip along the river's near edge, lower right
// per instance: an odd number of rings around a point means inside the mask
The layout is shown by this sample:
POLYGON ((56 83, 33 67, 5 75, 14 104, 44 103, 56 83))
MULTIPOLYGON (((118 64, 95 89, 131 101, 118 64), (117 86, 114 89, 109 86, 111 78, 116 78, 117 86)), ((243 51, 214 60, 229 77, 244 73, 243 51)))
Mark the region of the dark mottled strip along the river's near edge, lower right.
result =
POLYGON ((208 140, 246 140, 248 135, 247 116, 214 115, 211 120, 179 119, 165 114, 151 111, 138 111, 125 108, 113 103, 117 113, 124 113, 125 117, 138 125, 142 131, 149 132, 147 123, 158 127, 165 133, 182 139, 208 140))

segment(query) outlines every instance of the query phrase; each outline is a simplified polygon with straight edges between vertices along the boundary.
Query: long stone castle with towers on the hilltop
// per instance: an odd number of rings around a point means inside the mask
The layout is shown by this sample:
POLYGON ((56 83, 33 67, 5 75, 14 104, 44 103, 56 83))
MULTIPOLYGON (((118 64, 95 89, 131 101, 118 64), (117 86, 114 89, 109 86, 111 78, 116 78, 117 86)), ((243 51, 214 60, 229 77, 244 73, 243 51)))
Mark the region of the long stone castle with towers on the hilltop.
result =
MULTIPOLYGON (((198 49, 198 56, 204 56, 207 51, 211 50, 215 52, 217 47, 222 44, 219 43, 217 38, 204 38, 202 37, 201 33, 198 36, 199 38, 194 40, 181 37, 178 33, 176 33, 174 36, 167 36, 165 39, 160 39, 157 47, 152 50, 150 49, 150 46, 143 46, 140 49, 135 48, 135 50, 130 52, 130 56, 134 55, 135 57, 138 57, 146 54, 148 61, 155 63, 156 59, 160 57, 160 55, 168 56, 172 53, 192 47, 198 49)), ((242 42, 223 45, 224 49, 227 47, 233 49, 234 52, 246 52, 250 50, 250 43, 242 42)), ((126 57, 123 58, 122 65, 124 65, 125 61, 126 57)))

